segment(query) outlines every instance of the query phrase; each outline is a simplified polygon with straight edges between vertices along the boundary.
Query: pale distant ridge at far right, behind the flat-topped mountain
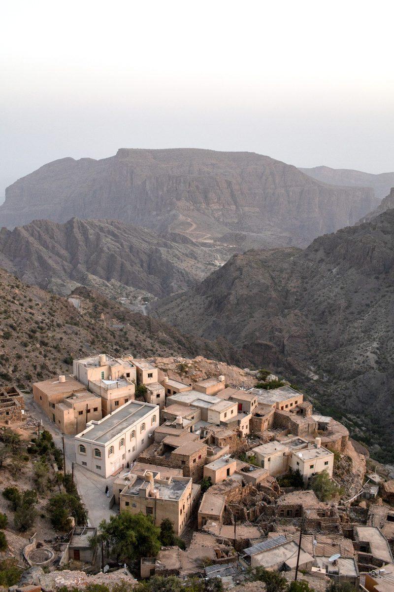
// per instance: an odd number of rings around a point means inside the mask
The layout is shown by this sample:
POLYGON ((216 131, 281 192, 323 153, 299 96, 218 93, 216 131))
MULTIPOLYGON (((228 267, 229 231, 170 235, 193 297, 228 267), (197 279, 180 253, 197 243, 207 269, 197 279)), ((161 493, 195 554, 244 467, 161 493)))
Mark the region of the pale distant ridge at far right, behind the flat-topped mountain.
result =
POLYGON ((312 169, 300 168, 299 170, 322 183, 348 187, 370 187, 375 192, 377 200, 383 200, 394 185, 394 172, 372 175, 372 173, 364 173, 361 170, 330 169, 329 166, 315 166, 312 169))

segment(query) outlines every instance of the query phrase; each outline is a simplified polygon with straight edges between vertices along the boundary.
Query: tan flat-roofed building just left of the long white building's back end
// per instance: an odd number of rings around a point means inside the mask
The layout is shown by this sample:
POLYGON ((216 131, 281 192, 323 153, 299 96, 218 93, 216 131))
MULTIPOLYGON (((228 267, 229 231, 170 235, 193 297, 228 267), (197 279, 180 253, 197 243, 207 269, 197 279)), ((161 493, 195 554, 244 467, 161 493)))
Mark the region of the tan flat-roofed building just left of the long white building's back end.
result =
POLYGON ((101 398, 88 391, 76 392, 56 403, 52 420, 64 434, 78 434, 87 422, 102 419, 101 398))

